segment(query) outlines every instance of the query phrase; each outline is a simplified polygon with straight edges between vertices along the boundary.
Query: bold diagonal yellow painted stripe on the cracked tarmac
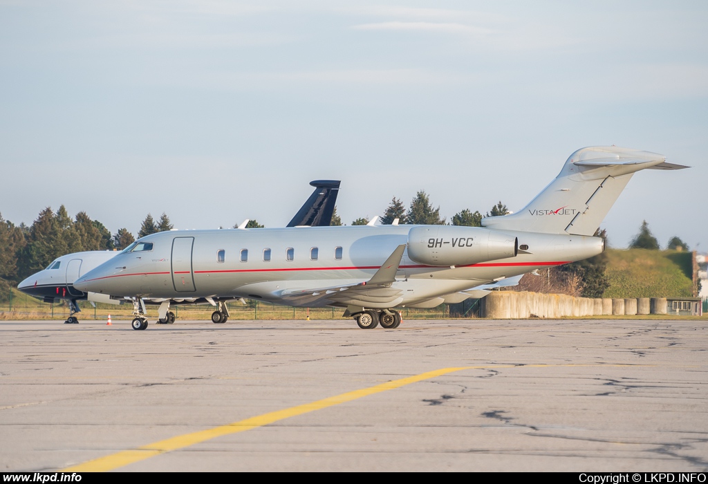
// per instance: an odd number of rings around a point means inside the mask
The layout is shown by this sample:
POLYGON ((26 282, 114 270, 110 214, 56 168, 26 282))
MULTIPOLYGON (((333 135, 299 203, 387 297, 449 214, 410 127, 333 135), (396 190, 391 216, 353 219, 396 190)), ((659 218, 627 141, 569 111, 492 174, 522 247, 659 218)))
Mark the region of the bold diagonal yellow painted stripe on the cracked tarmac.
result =
POLYGON ((178 435, 177 437, 171 437, 170 439, 164 439, 159 442, 153 442, 152 444, 137 447, 137 449, 120 451, 115 454, 110 454, 110 456, 99 457, 98 459, 93 459, 92 461, 87 461, 77 466, 64 468, 61 472, 112 471, 115 468, 127 466, 130 463, 143 461, 144 459, 149 459, 150 457, 164 454, 165 452, 183 449, 184 447, 199 444, 200 442, 205 442, 207 440, 214 439, 215 437, 221 437, 222 435, 235 434, 236 432, 244 432, 245 430, 263 427, 263 425, 272 424, 274 422, 278 422, 279 420, 295 417, 296 415, 302 415, 304 413, 314 412, 314 410, 321 410, 322 408, 339 405, 340 403, 347 403, 357 400, 358 398, 373 395, 374 393, 393 390, 394 388, 400 388, 401 386, 413 384, 418 381, 428 380, 435 378, 436 376, 442 376, 452 373, 453 371, 474 368, 475 367, 442 368, 415 376, 409 376, 408 378, 403 378, 400 380, 387 381, 384 384, 370 386, 369 388, 362 388, 361 390, 350 391, 348 393, 342 393, 341 395, 324 398, 312 403, 305 403, 304 405, 298 405, 297 407, 286 408, 285 410, 264 413, 263 415, 258 415, 257 417, 247 418, 246 420, 241 420, 239 422, 232 422, 220 427, 200 430, 199 432, 193 432, 191 434, 178 435))

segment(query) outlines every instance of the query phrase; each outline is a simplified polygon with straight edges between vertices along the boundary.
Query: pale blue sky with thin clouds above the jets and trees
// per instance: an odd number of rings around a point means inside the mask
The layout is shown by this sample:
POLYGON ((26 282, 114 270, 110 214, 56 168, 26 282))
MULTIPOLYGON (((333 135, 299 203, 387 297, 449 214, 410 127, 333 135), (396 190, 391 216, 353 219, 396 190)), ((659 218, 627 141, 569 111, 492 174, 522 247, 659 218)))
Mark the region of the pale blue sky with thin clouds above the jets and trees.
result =
POLYGON ((0 0, 0 214, 137 234, 285 226, 311 180, 344 223, 517 211, 573 151, 653 151, 603 221, 708 250, 702 1, 0 0))

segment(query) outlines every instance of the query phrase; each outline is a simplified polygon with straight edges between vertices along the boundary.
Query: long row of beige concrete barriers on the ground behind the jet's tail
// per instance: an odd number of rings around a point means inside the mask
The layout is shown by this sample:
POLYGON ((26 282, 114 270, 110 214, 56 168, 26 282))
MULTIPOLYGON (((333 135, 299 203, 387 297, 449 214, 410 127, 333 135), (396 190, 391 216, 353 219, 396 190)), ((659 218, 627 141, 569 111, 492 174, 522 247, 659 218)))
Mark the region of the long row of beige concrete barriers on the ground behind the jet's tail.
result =
POLYGON ((666 314, 666 298, 608 299, 538 292, 491 292, 481 299, 479 316, 492 319, 564 318, 666 314))

